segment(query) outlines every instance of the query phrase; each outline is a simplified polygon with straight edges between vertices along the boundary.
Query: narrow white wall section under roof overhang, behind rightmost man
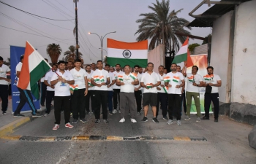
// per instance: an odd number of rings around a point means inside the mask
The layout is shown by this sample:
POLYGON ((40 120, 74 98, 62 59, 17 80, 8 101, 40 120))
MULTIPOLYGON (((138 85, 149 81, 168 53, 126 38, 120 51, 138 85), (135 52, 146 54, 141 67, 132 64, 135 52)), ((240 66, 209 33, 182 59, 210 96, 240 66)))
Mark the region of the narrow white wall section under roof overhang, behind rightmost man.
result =
POLYGON ((214 21, 211 39, 211 60, 210 66, 214 67, 214 74, 222 79, 222 86, 219 87, 219 101, 228 103, 227 93, 227 63, 230 44, 230 20, 233 11, 227 12, 214 21))

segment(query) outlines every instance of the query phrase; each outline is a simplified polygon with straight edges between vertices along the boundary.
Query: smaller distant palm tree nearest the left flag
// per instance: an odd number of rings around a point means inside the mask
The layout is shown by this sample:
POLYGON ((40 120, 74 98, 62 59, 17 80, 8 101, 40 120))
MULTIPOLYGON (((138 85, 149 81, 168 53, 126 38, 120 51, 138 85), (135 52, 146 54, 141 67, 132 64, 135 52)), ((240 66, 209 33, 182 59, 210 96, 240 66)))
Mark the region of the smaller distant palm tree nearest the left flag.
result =
POLYGON ((62 50, 61 50, 61 47, 59 46, 59 44, 53 43, 53 44, 48 44, 48 46, 46 48, 46 52, 50 56, 51 62, 57 63, 59 55, 61 55, 62 50))

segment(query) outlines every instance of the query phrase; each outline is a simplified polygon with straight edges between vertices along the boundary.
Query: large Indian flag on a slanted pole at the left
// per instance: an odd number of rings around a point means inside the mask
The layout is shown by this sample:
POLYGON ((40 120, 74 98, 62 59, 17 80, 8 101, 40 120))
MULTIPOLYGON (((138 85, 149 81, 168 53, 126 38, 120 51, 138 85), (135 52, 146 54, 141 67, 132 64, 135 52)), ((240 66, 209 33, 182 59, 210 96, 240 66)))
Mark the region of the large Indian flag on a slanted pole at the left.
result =
POLYGON ((23 65, 20 71, 18 87, 22 90, 31 90, 35 98, 39 99, 37 81, 41 79, 51 66, 42 58, 34 47, 26 42, 23 65))

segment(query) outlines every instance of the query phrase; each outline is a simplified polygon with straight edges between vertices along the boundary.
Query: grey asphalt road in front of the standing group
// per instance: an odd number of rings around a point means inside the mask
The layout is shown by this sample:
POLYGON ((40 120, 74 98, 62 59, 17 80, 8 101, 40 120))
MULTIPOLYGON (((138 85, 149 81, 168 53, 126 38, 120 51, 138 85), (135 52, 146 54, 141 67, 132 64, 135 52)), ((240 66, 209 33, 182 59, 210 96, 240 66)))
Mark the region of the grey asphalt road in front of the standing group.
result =
POLYGON ((89 122, 64 127, 61 119, 59 130, 52 130, 53 111, 24 125, 13 135, 21 136, 203 136, 207 141, 7 141, 0 140, 0 163, 256 163, 256 150, 249 147, 248 133, 252 126, 220 117, 219 122, 181 120, 182 125, 166 125, 159 116, 159 124, 140 122, 143 116, 132 123, 127 114, 126 122, 119 123, 120 115, 109 116, 109 124, 89 122))

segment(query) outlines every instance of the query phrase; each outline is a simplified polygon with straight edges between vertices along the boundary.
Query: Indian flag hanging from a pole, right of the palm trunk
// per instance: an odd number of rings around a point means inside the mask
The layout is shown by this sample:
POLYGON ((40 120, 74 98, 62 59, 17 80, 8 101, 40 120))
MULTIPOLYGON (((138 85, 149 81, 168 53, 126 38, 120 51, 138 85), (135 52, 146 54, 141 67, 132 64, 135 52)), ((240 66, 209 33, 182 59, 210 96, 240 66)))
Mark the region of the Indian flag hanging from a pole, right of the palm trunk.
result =
POLYGON ((187 37, 184 44, 182 44, 181 49, 178 50, 178 53, 175 55, 175 58, 173 59, 173 63, 181 63, 181 62, 187 61, 187 64, 186 64, 187 67, 194 65, 190 57, 188 46, 189 46, 189 37, 187 37))

